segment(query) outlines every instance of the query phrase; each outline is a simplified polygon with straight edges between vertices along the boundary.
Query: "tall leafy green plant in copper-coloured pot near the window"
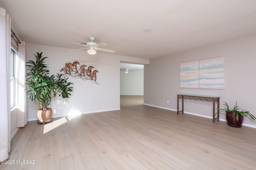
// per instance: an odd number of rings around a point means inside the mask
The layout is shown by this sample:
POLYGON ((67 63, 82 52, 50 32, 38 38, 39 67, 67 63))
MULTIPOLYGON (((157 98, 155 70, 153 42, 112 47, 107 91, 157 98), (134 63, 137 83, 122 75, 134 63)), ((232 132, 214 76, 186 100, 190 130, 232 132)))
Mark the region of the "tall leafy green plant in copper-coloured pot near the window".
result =
POLYGON ((36 61, 27 61, 26 73, 28 88, 27 93, 30 93, 29 99, 35 103, 38 101, 38 123, 48 123, 51 121, 52 109, 48 108, 53 97, 61 96, 69 98, 72 92, 73 83, 68 82, 62 74, 49 76, 49 70, 44 60, 48 57, 42 57, 42 53, 37 52, 36 61))

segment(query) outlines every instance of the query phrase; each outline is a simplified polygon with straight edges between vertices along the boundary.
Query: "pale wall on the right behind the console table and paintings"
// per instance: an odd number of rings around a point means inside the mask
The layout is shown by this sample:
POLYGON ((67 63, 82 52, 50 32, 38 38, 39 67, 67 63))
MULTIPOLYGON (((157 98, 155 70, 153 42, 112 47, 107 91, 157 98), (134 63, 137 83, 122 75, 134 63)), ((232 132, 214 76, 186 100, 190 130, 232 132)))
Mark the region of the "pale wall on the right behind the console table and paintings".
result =
MULTIPOLYGON (((224 108, 223 102, 233 107, 237 101, 240 108, 256 115, 255 55, 256 35, 150 60, 150 64, 144 66, 144 103, 176 110, 176 94, 220 96, 221 108, 224 108), (225 90, 180 88, 181 62, 221 56, 226 57, 225 90)), ((184 100, 184 111, 212 117, 212 103, 184 100)), ((225 120, 225 114, 220 114, 220 118, 225 120)), ((256 121, 249 116, 243 124, 256 127, 256 121)))

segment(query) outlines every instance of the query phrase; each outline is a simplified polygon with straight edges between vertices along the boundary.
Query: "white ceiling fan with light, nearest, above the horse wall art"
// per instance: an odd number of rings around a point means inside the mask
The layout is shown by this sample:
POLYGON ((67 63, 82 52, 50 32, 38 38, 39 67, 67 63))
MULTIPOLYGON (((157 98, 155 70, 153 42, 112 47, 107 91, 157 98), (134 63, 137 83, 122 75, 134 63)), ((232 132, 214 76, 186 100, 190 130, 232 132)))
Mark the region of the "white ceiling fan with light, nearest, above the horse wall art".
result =
POLYGON ((73 49, 72 51, 74 50, 83 50, 83 49, 88 49, 87 50, 87 53, 90 54, 90 55, 94 55, 97 53, 96 50, 99 50, 99 51, 105 51, 105 52, 108 52, 108 53, 114 53, 115 51, 114 50, 109 50, 109 49, 102 49, 102 48, 99 48, 99 47, 104 47, 106 46, 105 43, 94 43, 93 41, 95 40, 94 37, 90 37, 90 40, 91 42, 88 42, 88 43, 84 43, 84 42, 81 42, 81 43, 75 43, 75 42, 70 42, 70 43, 74 43, 74 44, 78 44, 78 45, 82 45, 82 46, 85 46, 86 48, 82 48, 82 49, 73 49))

